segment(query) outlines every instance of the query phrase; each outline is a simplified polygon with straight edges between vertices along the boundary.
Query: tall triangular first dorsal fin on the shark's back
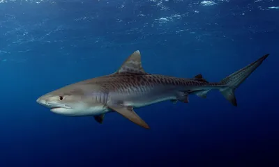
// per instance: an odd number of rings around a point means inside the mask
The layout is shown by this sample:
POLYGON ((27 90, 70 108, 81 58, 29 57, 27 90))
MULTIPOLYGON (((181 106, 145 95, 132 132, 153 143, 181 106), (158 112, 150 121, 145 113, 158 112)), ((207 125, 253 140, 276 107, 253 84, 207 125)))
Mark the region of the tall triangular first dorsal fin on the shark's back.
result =
POLYGON ((137 50, 131 54, 115 73, 145 74, 146 72, 142 68, 140 51, 137 50))

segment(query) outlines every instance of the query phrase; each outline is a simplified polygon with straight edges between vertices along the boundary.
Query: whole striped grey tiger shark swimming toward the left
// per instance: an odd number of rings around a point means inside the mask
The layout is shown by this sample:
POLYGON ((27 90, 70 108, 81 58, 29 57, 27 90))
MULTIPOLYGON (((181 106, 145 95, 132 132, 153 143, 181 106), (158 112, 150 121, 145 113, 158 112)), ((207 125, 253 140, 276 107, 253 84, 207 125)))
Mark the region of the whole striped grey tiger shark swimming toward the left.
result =
POLYGON ((150 129, 135 113, 135 108, 163 101, 188 103, 189 95, 206 97, 210 90, 219 90, 232 105, 237 106, 234 92, 241 83, 269 56, 230 74, 220 82, 209 82, 197 74, 193 78, 178 78, 149 74, 142 67, 140 51, 135 51, 112 74, 86 79, 53 90, 36 100, 50 111, 63 116, 93 116, 102 124, 107 113, 119 113, 124 118, 150 129))

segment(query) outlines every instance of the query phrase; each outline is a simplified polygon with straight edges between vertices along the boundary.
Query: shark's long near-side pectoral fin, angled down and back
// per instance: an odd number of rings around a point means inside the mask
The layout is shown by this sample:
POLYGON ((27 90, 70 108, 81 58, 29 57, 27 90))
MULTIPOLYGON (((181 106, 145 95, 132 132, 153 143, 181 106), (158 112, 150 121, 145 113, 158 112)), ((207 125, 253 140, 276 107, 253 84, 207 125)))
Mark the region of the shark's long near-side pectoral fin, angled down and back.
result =
POLYGON ((123 117, 128 118, 128 120, 134 122, 137 125, 140 125, 141 127, 144 127, 146 129, 150 129, 149 125, 140 118, 140 116, 137 116, 137 113, 133 110, 132 106, 109 106, 110 109, 116 111, 117 113, 120 113, 123 117))

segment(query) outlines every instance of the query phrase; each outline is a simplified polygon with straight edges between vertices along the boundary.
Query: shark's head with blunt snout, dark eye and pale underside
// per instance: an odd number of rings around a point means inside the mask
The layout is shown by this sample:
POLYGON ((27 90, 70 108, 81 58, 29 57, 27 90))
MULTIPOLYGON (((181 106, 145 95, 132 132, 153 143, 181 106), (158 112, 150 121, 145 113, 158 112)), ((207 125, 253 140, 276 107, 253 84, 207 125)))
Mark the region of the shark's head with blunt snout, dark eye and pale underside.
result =
POLYGON ((37 99, 38 104, 50 108, 50 111, 65 116, 77 116, 90 107, 82 90, 77 88, 60 88, 37 99))

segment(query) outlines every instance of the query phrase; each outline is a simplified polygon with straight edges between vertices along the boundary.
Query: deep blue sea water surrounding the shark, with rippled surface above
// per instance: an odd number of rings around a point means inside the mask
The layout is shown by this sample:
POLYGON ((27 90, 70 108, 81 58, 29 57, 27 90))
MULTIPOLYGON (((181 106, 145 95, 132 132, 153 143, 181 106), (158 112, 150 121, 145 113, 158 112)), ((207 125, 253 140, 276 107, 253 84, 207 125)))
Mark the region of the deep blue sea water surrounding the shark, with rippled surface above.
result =
POLYGON ((276 0, 1 0, 0 166, 278 166, 276 0), (144 70, 220 81, 264 54, 236 90, 116 113, 103 125, 36 103, 115 72, 139 49, 144 70))

